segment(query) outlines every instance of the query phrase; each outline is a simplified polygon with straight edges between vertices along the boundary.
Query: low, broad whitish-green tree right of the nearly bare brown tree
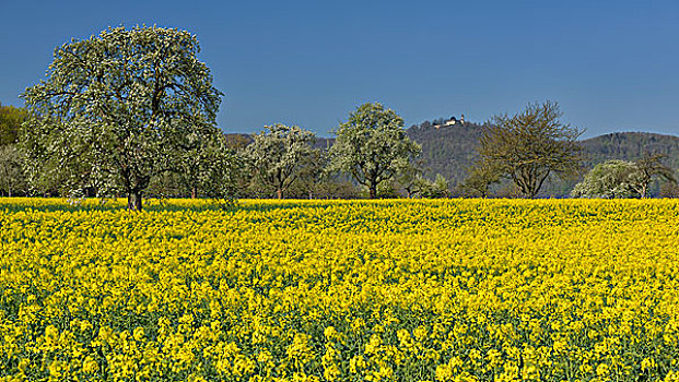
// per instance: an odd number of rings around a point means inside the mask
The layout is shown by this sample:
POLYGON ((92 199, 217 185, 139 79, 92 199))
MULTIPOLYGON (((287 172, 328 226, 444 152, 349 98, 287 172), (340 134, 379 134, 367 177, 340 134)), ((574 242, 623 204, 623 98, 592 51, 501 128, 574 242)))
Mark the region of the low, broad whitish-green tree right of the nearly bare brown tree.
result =
POLYGON ((600 163, 575 184, 571 195, 574 198, 635 198, 639 192, 630 183, 636 165, 628 160, 607 160, 600 163))

